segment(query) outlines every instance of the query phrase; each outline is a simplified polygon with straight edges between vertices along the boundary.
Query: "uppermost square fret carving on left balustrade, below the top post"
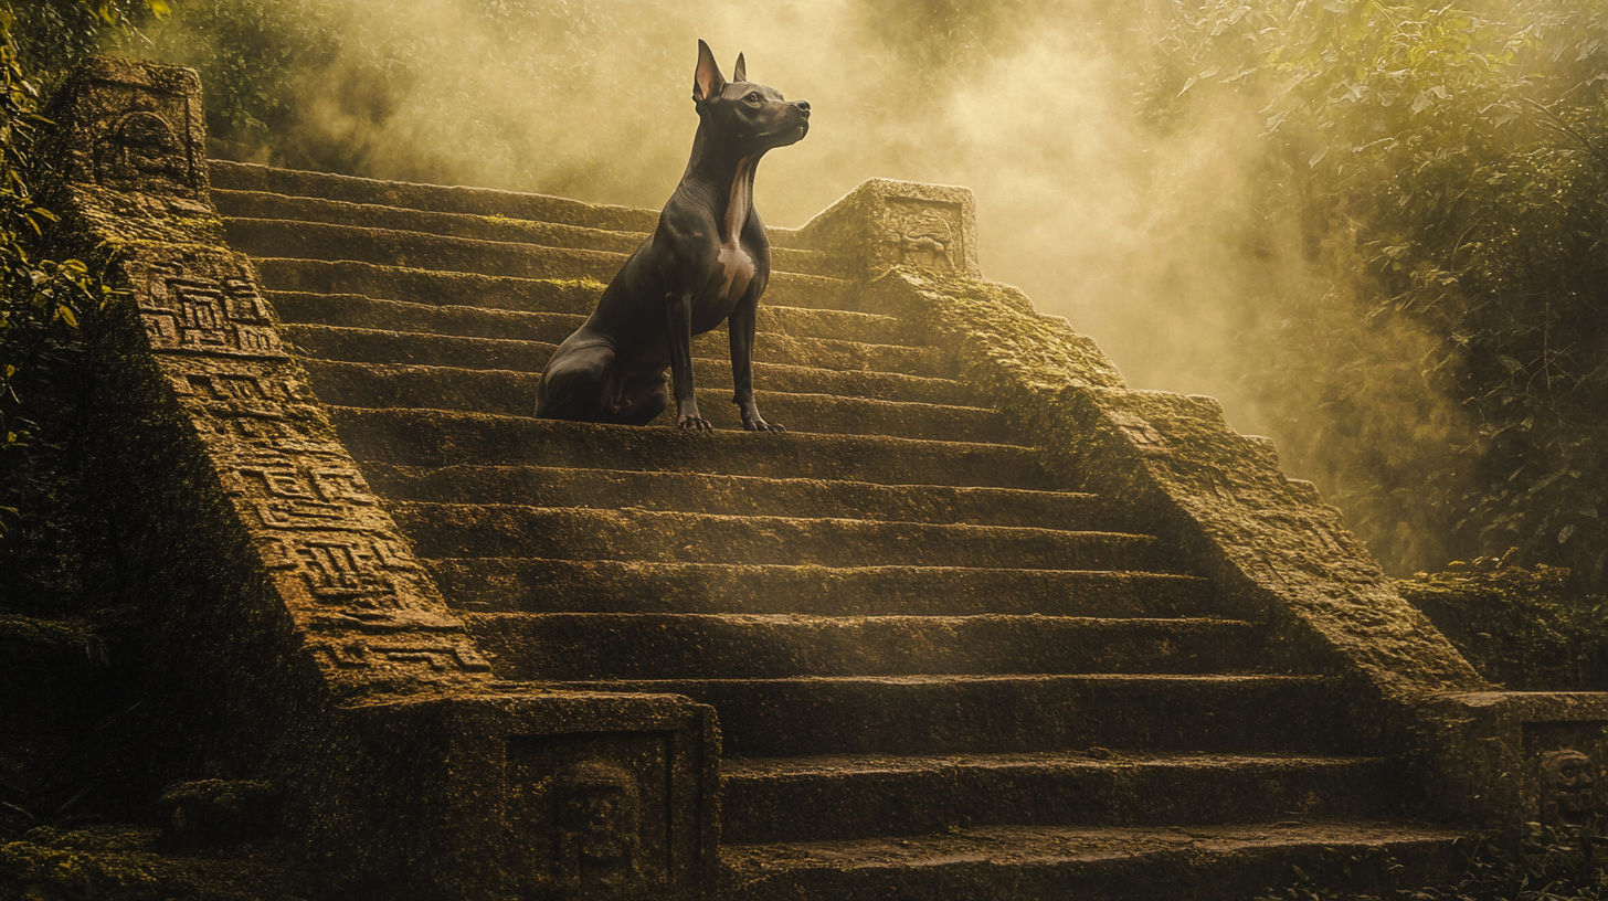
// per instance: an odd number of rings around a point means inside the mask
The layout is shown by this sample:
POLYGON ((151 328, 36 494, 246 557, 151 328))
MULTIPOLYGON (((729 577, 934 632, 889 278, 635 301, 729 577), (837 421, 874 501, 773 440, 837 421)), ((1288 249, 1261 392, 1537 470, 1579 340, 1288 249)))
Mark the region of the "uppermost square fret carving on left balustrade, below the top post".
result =
POLYGON ((153 264, 137 280, 140 319, 158 352, 289 359, 240 261, 153 264))

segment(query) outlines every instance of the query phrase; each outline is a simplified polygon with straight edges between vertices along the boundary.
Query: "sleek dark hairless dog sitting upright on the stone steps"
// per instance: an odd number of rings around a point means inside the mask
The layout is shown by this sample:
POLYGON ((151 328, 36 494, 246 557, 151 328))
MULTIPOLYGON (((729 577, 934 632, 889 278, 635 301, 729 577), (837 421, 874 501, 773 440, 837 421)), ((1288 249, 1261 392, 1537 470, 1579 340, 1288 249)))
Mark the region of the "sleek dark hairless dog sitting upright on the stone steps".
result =
POLYGON ((646 425, 669 405, 675 425, 711 431, 693 394, 693 335, 728 323, 732 381, 748 431, 786 431, 754 405, 754 322, 770 282, 770 240, 754 209, 754 169, 770 150, 804 140, 809 103, 749 82, 743 55, 725 80, 698 42, 698 134, 653 237, 638 246, 597 309, 553 351, 535 389, 544 418, 646 425))

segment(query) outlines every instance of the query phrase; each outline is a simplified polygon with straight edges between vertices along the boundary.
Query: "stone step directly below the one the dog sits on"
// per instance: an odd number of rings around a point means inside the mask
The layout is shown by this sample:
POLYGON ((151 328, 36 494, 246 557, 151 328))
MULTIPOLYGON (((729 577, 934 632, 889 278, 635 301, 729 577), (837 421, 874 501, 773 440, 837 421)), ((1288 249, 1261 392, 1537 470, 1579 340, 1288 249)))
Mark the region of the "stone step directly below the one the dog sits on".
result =
MULTIPOLYGON (((825 516, 1110 531, 1093 494, 552 467, 363 467, 388 500, 635 507, 733 516, 825 516)), ((1121 531, 1121 529, 1118 529, 1121 531)))

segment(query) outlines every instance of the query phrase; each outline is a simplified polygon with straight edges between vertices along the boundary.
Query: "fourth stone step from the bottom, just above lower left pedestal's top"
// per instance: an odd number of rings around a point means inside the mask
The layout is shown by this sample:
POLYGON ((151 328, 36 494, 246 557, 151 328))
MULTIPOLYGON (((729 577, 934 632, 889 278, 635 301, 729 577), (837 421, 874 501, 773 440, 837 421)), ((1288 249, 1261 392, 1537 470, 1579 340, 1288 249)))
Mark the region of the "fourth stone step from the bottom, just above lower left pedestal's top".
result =
POLYGON ((502 679, 778 679, 1253 669, 1235 619, 476 613, 502 679))

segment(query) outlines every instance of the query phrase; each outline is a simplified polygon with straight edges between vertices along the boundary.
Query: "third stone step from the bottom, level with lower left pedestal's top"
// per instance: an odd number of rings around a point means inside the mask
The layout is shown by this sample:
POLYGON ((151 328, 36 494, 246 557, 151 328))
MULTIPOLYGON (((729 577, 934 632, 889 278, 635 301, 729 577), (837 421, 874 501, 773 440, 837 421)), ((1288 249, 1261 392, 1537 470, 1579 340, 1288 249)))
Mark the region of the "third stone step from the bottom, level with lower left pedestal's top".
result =
POLYGON ((552 685, 687 695, 711 705, 728 758, 1364 751, 1341 714, 1343 684, 1322 676, 838 676, 552 685))

